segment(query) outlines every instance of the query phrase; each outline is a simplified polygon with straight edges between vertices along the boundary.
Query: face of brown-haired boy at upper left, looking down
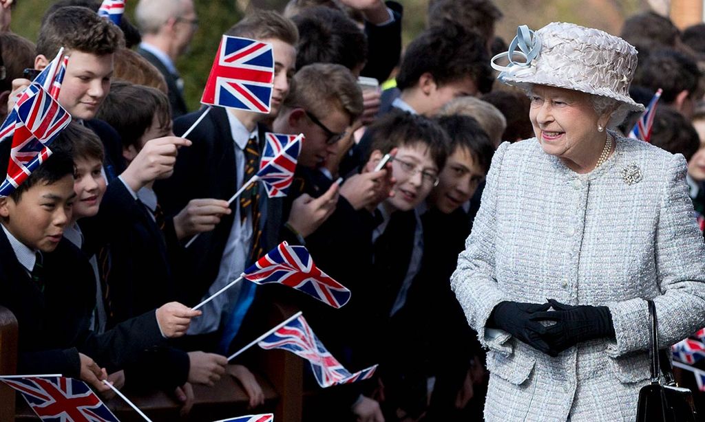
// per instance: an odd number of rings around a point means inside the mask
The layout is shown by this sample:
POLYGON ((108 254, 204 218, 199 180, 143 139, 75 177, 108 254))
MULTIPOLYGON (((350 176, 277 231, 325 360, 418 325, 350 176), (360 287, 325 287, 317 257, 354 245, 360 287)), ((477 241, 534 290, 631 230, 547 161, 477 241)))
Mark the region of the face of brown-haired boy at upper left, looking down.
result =
POLYGON ((74 119, 90 120, 110 91, 113 54, 96 56, 71 51, 66 76, 61 84, 59 103, 74 119))

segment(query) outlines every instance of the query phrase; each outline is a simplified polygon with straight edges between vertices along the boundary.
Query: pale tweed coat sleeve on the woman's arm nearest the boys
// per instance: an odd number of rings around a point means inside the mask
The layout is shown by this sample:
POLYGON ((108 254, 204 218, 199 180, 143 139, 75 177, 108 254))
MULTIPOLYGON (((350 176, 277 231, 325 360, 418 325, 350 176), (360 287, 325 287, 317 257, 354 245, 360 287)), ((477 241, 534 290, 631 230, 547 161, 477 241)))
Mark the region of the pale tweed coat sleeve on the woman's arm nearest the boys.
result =
POLYGON ((495 238, 497 233, 498 179, 501 177, 502 161, 509 146, 499 146, 492 158, 487 174, 487 184, 482 193, 482 205, 474 221, 472 233, 465 241, 465 250, 458 257, 458 267, 450 279, 450 286, 465 311, 470 326, 477 331, 480 343, 490 350, 511 353, 510 335, 505 331, 485 328, 492 309, 503 300, 508 300, 498 288, 495 271, 495 238))

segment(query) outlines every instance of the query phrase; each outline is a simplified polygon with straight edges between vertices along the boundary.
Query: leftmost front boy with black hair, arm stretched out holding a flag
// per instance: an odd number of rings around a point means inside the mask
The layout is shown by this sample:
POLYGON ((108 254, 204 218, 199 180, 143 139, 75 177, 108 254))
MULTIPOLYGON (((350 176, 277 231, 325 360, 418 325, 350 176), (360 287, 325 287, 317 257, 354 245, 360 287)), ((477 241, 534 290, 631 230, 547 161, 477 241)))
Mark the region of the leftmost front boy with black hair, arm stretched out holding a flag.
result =
MULTIPOLYGON (((9 150, 5 143, 2 162, 9 150)), ((20 373, 62 373, 104 391, 106 370, 121 369, 142 350, 183 335, 200 312, 173 302, 104 334, 89 330, 92 269, 63 238, 75 201, 73 170, 70 156, 58 151, 0 198, 0 305, 18 319, 20 373)))

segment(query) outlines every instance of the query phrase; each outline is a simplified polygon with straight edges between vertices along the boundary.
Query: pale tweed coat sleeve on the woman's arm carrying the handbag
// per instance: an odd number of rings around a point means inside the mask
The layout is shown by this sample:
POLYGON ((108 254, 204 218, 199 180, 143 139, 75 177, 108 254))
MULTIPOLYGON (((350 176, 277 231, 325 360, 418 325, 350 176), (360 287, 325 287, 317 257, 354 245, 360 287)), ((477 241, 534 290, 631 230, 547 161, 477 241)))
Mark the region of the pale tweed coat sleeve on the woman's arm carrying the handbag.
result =
MULTIPOLYGON (((666 165, 654 238, 656 277, 661 295, 653 298, 660 347, 668 347, 705 326, 705 246, 685 183, 686 164, 674 155, 666 165)), ((649 309, 635 298, 608 305, 615 341, 611 357, 649 347, 649 309)))

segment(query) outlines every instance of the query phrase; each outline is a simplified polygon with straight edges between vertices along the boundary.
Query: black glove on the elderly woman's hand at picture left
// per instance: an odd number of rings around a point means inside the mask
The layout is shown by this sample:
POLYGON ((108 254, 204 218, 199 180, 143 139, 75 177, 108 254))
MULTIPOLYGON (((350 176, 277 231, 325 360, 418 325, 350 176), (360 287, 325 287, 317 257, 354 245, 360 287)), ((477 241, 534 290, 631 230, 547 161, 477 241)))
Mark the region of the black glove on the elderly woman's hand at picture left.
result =
POLYGON ((537 313, 545 313, 550 307, 548 303, 499 302, 489 316, 488 326, 500 328, 534 349, 551 354, 553 350, 541 338, 546 327, 531 318, 537 313))

